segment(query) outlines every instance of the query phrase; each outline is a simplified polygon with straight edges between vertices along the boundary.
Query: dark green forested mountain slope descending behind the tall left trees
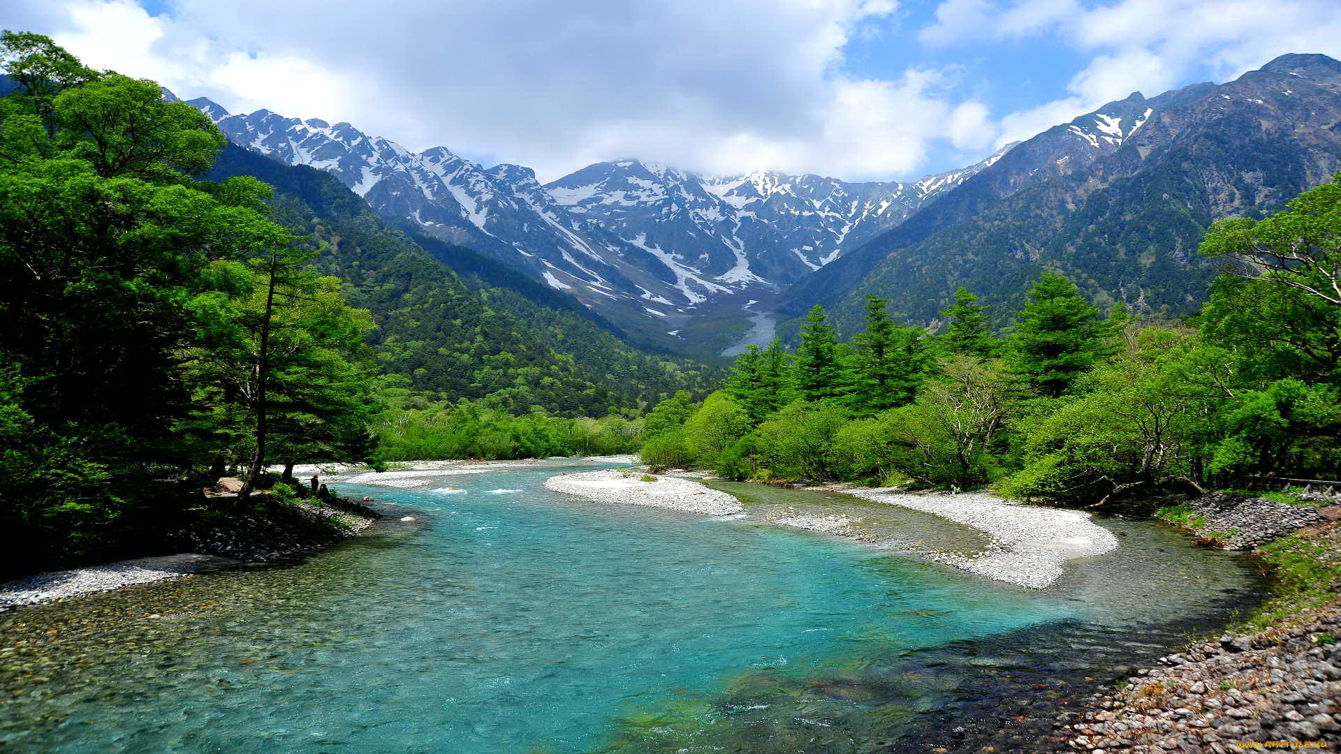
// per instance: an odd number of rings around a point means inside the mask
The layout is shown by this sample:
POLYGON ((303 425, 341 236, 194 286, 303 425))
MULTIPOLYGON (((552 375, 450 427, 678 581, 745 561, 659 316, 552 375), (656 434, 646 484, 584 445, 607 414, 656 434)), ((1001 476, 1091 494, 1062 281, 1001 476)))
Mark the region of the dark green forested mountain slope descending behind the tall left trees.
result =
POLYGON ((229 145, 209 177, 239 174, 275 186, 276 219, 322 244, 315 264, 342 279, 350 303, 377 321, 370 345, 378 361, 417 389, 493 396, 515 412, 539 405, 602 416, 677 389, 700 390, 712 377, 703 365, 625 345, 569 297, 538 284, 493 284, 506 272, 469 250, 441 244, 434 258, 329 173, 229 145), (449 263, 461 264, 464 276, 449 263))

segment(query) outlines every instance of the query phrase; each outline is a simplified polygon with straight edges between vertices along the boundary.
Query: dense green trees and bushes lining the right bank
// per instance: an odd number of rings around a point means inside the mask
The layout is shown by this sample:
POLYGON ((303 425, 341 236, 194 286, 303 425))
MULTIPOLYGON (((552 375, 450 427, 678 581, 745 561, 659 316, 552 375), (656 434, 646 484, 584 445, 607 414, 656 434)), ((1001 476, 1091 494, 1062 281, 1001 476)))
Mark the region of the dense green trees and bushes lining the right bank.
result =
POLYGON ((1198 317, 1106 318, 1043 272, 1002 334, 960 288, 939 333, 866 297, 839 343, 821 306, 797 353, 742 354, 701 404, 664 401, 644 459, 734 479, 996 484, 1015 498, 1104 502, 1246 474, 1341 475, 1341 176, 1265 220, 1215 223, 1230 270, 1198 317))

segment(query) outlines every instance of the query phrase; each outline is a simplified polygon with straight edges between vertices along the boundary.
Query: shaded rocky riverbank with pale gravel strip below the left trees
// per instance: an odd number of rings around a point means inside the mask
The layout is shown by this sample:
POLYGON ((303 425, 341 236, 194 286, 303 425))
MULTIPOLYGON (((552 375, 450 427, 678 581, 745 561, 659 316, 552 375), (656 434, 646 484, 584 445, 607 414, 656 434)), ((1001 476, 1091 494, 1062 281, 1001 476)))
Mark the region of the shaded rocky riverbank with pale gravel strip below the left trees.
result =
POLYGON ((240 562, 278 561, 354 537, 377 518, 371 508, 346 500, 320 506, 300 500, 201 517, 165 534, 161 547, 177 554, 38 573, 0 584, 0 612, 240 562))

